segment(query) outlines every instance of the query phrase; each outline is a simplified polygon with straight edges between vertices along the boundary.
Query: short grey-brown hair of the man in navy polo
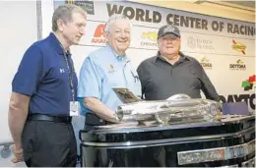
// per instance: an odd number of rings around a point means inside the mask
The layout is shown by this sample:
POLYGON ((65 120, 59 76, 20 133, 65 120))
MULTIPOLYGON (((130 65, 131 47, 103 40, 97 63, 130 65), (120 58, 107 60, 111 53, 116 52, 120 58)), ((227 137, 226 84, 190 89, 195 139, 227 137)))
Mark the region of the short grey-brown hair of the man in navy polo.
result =
POLYGON ((85 19, 87 19, 87 12, 83 8, 73 4, 61 5, 58 8, 56 8, 53 13, 52 30, 56 31, 58 29, 58 20, 63 20, 65 24, 67 22, 71 22, 73 13, 80 13, 84 16, 85 19))

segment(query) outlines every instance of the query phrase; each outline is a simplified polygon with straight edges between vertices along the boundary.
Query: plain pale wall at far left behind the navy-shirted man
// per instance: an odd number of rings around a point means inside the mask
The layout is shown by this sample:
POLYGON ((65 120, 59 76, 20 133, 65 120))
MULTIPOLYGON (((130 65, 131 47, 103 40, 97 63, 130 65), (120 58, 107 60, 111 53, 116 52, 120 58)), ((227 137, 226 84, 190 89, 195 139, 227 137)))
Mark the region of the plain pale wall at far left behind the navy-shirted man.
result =
MULTIPOLYGON (((12 80, 26 49, 37 40, 36 2, 0 1, 0 21, 0 145, 2 145, 12 142, 8 128, 12 80)), ((0 157, 0 166, 12 166, 10 159, 0 157)))

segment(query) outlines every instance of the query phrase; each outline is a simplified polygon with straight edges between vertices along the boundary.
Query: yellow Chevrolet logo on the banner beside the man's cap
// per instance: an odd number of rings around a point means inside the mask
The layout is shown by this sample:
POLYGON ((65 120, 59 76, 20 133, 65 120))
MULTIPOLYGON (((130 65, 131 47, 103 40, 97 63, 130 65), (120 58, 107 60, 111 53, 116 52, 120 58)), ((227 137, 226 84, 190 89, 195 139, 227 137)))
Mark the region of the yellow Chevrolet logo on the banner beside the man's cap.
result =
POLYGON ((142 32, 141 46, 158 46, 158 33, 156 31, 142 32))

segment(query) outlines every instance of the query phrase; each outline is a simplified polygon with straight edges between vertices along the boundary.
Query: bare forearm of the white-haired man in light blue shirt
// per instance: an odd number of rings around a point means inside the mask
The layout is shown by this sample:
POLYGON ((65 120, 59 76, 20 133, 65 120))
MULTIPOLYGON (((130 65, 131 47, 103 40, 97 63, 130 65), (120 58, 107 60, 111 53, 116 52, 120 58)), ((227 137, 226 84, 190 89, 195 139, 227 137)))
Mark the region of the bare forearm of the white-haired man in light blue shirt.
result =
POLYGON ((108 121, 111 123, 118 123, 115 117, 115 112, 112 111, 107 106, 105 106, 96 97, 84 98, 83 104, 86 108, 90 109, 91 111, 94 111, 94 113, 104 121, 108 121))

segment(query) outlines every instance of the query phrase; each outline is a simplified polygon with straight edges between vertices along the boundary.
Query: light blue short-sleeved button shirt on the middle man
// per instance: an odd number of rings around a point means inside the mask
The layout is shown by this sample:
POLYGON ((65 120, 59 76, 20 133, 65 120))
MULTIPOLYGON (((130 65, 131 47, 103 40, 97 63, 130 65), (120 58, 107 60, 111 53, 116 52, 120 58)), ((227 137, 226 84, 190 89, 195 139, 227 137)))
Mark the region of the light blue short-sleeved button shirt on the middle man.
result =
POLYGON ((96 97, 111 110, 123 104, 112 86, 127 87, 141 96, 141 83, 127 56, 118 56, 109 45, 89 54, 80 70, 78 97, 82 114, 91 112, 83 105, 84 97, 96 97))

